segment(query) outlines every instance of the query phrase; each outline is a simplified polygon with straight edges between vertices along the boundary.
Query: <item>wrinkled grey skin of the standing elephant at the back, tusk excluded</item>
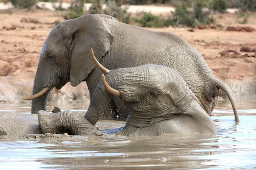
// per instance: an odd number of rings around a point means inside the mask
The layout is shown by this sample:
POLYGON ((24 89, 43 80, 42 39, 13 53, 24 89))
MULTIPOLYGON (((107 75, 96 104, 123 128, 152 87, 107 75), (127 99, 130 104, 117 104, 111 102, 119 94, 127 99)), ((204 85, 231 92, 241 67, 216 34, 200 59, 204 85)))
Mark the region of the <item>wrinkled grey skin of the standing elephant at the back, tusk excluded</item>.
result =
MULTIPOLYGON (((70 19, 51 31, 40 54, 33 94, 46 86, 60 89, 67 82, 77 86, 86 81, 92 95, 101 72, 91 60, 91 47, 98 61, 108 69, 149 63, 176 68, 208 115, 222 89, 238 121, 236 106, 226 85, 213 76, 203 57, 186 40, 175 34, 127 25, 106 15, 70 19)), ((32 113, 46 109, 50 91, 32 101, 32 113)), ((126 119, 128 111, 120 99, 114 98, 106 105, 106 117, 114 119, 118 115, 126 119)))

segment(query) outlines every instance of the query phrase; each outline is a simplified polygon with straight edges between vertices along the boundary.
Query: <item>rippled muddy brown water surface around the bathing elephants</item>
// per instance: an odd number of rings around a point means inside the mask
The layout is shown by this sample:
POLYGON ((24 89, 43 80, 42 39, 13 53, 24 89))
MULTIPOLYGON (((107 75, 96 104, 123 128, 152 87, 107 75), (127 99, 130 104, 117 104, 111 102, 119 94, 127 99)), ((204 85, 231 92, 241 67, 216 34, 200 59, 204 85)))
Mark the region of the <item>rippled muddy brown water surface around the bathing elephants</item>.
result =
MULTIPOLYGON (((214 110, 216 116, 212 119, 222 120, 216 122, 216 138, 163 135, 0 139, 0 170, 256 169, 256 100, 236 103, 241 115, 238 125, 228 102, 219 102, 214 110)), ((84 106, 61 108, 85 109, 84 106)), ((0 112, 3 110, 28 113, 30 108, 0 107, 0 112)))

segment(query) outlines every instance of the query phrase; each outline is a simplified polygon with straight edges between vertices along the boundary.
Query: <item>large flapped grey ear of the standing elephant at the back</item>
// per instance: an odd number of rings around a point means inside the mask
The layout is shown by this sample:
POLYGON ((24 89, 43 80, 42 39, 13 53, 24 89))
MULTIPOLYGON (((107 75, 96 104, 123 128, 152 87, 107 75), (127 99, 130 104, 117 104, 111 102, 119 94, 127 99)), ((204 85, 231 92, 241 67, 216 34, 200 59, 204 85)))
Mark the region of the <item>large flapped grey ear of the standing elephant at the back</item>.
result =
POLYGON ((85 15, 71 22, 76 27, 73 33, 73 49, 71 52, 70 83, 77 86, 95 68, 90 56, 93 48, 98 61, 109 50, 113 35, 107 23, 97 15, 85 15))

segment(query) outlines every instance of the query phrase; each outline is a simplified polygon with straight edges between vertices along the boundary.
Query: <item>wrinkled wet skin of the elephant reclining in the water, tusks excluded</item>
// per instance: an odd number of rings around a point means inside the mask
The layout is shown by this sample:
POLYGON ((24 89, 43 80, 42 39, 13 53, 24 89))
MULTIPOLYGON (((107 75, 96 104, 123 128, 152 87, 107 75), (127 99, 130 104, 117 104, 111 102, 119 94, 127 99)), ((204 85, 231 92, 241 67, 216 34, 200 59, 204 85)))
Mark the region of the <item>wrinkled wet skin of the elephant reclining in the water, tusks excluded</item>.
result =
MULTIPOLYGON (((126 124, 116 132, 117 135, 216 134, 210 116, 198 104, 197 97, 176 69, 152 64, 118 68, 106 74, 106 81, 120 92, 118 98, 129 111, 126 124)), ((111 98, 113 95, 99 81, 84 117, 40 110, 41 130, 43 133, 56 133, 59 129, 68 129, 75 135, 95 134, 97 130, 93 125, 111 98)))

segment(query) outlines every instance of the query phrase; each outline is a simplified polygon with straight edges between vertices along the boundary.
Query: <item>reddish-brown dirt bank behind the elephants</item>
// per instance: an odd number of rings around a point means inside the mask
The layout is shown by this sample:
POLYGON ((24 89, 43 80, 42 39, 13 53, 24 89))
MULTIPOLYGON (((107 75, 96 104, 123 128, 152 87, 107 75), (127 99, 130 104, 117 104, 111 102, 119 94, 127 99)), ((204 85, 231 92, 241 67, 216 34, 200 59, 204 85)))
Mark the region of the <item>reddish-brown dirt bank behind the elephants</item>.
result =
MULTIPOLYGON (((251 14, 250 25, 238 24, 236 16, 215 15, 217 23, 222 25, 220 28, 213 25, 193 29, 193 32, 188 31, 189 28, 149 29, 180 35, 202 54, 214 75, 228 84, 237 98, 255 96, 256 31, 226 31, 226 28, 250 26, 256 29, 256 14, 251 14), (250 47, 251 52, 241 52, 242 46, 250 47)), ((40 50, 56 20, 63 20, 59 12, 0 12, 0 104, 30 103, 21 98, 32 93, 40 50)), ((88 103, 88 98, 85 83, 77 87, 67 84, 51 93, 49 103, 88 103)))

